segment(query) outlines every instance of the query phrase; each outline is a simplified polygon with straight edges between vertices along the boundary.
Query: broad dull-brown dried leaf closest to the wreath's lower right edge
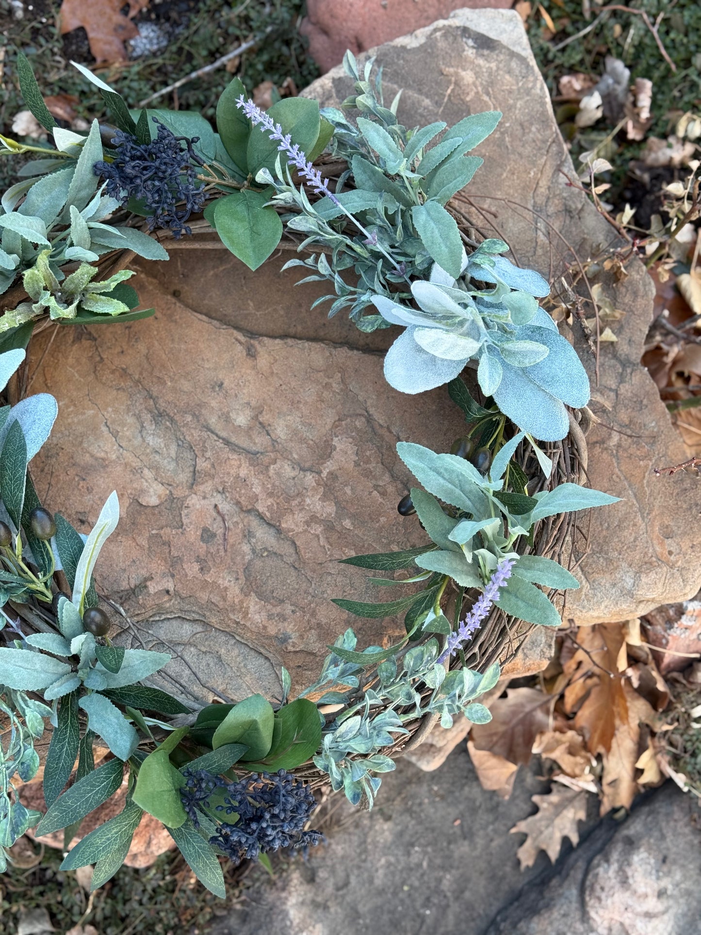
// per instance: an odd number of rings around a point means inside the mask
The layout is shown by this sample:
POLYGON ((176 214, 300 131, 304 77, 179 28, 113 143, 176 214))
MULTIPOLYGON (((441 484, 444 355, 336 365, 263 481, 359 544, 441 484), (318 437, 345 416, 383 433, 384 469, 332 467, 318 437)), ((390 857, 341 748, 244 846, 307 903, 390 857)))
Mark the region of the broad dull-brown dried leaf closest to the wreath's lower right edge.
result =
POLYGON ((509 763, 530 762, 537 734, 550 726, 551 698, 536 688, 509 688, 506 698, 497 698, 489 724, 472 728, 477 750, 489 750, 509 763))

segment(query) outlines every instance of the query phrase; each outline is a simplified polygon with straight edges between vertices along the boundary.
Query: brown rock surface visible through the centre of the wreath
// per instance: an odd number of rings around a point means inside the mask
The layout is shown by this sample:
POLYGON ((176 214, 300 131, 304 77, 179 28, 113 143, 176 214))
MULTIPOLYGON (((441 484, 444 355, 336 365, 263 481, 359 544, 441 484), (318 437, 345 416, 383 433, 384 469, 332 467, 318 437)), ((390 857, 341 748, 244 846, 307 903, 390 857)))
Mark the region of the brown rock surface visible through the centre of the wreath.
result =
POLYGON ((40 365, 49 332, 30 353, 33 391, 60 413, 33 463, 40 495, 82 531, 119 492, 99 587, 207 700, 279 697, 280 663, 300 690, 347 626, 362 645, 403 630, 330 602, 390 599, 337 560, 425 540, 396 511, 409 478, 394 445, 445 451, 464 424, 443 391, 395 393, 372 350, 392 336, 309 313, 320 293, 280 265, 174 251, 139 276, 153 318, 59 328, 40 365))

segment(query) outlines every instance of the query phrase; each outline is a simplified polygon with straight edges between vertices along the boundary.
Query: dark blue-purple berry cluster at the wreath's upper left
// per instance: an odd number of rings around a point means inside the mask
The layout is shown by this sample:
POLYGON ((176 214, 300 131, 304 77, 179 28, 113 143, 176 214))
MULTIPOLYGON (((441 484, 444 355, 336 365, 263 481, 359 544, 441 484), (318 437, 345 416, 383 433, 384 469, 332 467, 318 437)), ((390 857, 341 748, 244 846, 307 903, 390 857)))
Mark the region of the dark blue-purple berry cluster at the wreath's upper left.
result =
POLYGON ((115 130, 112 143, 113 161, 94 165, 95 175, 107 180, 107 194, 126 205, 131 198, 143 201, 152 212, 149 229, 165 227, 174 237, 192 234, 185 223, 191 214, 201 211, 207 194, 196 184, 193 143, 199 137, 176 137, 163 123, 158 123, 158 135, 150 143, 139 143, 136 137, 115 130), (185 147, 182 147, 185 143, 185 147))

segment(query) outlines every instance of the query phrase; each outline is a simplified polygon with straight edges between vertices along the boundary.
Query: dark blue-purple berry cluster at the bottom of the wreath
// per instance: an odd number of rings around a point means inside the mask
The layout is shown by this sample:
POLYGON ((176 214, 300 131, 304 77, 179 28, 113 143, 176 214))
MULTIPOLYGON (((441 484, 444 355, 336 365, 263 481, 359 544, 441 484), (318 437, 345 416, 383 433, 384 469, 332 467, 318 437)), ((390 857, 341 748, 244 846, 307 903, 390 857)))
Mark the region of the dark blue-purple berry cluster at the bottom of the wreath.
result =
POLYGON ((280 847, 306 851, 322 841, 320 831, 304 830, 316 808, 314 796, 307 785, 285 770, 272 776, 253 773, 237 783, 224 782, 204 770, 186 773, 180 798, 195 827, 199 827, 199 810, 209 808, 212 793, 220 787, 225 790, 223 804, 215 810, 238 817, 233 825, 222 822, 209 843, 235 863, 280 847))

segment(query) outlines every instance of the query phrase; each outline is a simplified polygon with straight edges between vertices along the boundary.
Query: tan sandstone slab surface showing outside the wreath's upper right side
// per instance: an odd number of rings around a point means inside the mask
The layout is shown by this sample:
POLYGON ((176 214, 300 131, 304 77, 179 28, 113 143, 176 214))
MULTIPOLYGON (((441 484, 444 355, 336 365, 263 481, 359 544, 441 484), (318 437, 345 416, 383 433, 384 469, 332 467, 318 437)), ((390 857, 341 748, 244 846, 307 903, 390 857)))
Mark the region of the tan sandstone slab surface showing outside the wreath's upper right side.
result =
MULTIPOLYGON (((586 261, 615 242, 591 202, 567 187, 563 173, 572 177, 574 168, 518 13, 463 9, 372 53, 384 66, 386 98, 404 89, 398 115, 408 126, 436 119, 451 124, 480 110, 504 112, 476 151, 485 163, 467 189, 473 207, 466 210, 486 234, 506 237, 522 266, 555 281, 565 261, 574 262, 573 251, 586 261)), ((350 88, 350 79, 335 68, 304 94, 330 105, 350 88)), ((654 289, 641 264, 626 268, 622 281, 600 280, 625 315, 613 327, 618 343, 602 346, 599 385, 593 385, 591 406, 600 421, 587 438, 589 478, 622 502, 591 516, 590 548, 578 570, 582 587, 567 598, 568 617, 583 624, 641 616, 692 597, 701 585, 696 525, 690 522, 701 512, 701 488, 689 475, 656 478, 651 471, 686 457, 639 364, 654 289)), ((594 378, 592 356, 579 335, 576 340, 594 378)))

